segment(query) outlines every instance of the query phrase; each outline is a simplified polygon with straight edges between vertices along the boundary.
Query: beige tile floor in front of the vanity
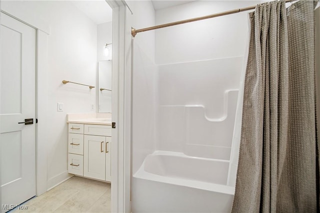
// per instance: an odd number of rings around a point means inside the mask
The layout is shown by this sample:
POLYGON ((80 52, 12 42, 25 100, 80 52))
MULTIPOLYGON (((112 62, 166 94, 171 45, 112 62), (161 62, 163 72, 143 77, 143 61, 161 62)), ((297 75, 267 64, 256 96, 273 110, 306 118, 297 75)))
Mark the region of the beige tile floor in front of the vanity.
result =
POLYGON ((27 210, 10 213, 109 213, 108 183, 73 176, 50 191, 21 204, 27 210))

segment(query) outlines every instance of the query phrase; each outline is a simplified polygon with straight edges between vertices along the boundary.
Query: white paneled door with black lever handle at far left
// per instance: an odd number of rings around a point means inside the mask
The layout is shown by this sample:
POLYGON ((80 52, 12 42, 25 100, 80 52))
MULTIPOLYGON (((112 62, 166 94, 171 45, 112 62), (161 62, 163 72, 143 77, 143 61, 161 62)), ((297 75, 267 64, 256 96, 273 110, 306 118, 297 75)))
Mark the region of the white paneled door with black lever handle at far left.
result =
POLYGON ((2 12, 0 20, 1 212, 7 212, 35 196, 36 31, 2 12))

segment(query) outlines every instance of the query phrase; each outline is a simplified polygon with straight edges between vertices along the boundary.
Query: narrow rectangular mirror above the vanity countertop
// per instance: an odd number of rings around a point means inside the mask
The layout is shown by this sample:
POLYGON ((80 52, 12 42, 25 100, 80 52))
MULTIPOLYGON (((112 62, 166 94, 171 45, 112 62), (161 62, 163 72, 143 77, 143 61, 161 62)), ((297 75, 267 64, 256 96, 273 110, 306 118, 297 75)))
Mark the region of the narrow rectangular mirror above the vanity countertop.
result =
POLYGON ((112 60, 98 62, 98 112, 111 113, 112 60))

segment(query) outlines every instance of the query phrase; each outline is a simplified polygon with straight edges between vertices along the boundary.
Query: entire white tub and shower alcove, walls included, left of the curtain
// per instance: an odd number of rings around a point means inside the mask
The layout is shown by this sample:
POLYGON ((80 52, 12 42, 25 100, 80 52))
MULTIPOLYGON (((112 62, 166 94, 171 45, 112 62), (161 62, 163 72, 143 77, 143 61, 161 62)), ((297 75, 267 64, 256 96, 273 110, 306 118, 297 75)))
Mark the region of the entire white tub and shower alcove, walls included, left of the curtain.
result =
MULTIPOLYGON (((139 10, 143 21, 134 27, 255 3, 260 1, 191 1, 156 10, 154 17, 139 10)), ((139 33, 133 39, 133 213, 230 212, 247 18, 247 13, 237 13, 139 33)))

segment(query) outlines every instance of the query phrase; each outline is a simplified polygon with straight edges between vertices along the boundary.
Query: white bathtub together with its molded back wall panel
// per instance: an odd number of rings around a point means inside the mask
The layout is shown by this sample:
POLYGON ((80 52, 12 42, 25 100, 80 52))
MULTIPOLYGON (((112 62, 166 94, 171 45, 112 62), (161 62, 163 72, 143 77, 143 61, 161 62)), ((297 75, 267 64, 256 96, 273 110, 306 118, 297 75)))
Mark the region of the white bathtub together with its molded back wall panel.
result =
POLYGON ((154 152, 133 173, 133 212, 230 212, 242 63, 231 57, 154 67, 154 152))

